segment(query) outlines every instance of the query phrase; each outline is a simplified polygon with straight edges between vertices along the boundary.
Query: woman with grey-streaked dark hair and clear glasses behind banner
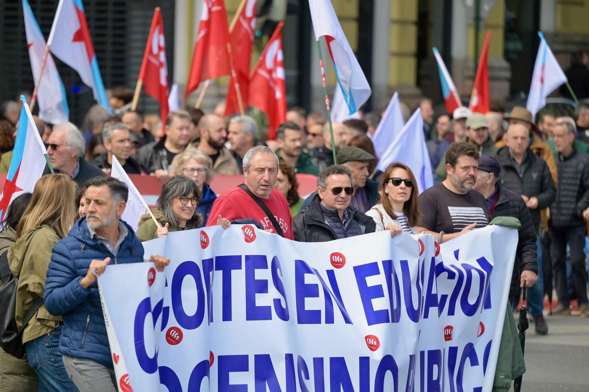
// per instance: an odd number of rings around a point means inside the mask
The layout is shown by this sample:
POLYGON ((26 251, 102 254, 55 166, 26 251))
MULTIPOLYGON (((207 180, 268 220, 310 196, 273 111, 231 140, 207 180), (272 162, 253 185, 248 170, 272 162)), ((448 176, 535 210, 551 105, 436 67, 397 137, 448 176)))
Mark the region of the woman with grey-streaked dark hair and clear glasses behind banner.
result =
POLYGON ((203 222, 203 217, 196 212, 201 197, 200 189, 192 178, 174 175, 164 183, 157 198, 157 208, 151 210, 161 227, 157 227, 150 214, 145 214, 139 221, 139 228, 135 233, 137 238, 149 241, 166 237, 170 231, 197 228, 203 222))

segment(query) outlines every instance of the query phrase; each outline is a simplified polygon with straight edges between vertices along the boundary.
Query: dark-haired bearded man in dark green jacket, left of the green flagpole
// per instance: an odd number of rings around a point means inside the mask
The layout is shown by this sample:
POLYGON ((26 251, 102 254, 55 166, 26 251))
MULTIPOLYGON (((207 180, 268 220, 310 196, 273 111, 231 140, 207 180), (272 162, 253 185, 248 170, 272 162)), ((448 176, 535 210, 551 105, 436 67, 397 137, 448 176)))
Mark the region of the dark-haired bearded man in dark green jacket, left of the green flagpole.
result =
POLYGON ((303 152, 302 137, 299 125, 294 122, 280 124, 276 129, 276 139, 280 146, 276 150, 276 155, 297 173, 318 175, 319 169, 311 162, 311 156, 303 152))

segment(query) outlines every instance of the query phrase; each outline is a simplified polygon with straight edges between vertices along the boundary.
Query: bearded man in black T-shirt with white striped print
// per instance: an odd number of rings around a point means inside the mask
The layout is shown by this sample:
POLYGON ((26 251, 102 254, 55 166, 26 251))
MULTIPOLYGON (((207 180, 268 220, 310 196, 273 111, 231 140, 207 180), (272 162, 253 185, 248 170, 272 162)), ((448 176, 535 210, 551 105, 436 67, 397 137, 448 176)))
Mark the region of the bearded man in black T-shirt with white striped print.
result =
POLYGON ((477 181, 478 148, 455 142, 446 151, 446 179, 419 195, 418 231, 434 234, 438 242, 452 240, 487 226, 491 215, 485 197, 472 189, 477 181))

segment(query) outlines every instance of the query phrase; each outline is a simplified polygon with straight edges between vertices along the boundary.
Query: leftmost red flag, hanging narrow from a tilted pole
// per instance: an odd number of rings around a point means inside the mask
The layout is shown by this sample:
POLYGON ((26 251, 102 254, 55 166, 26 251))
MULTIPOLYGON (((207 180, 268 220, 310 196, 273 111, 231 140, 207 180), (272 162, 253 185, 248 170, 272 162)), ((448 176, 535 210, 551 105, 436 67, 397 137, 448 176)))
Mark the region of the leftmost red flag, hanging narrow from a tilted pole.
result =
POLYGON ((143 81, 145 92, 160 102, 161 121, 168 116, 168 65, 166 61, 166 40, 164 39, 164 20, 160 7, 155 8, 147 46, 141 63, 139 80, 143 81))

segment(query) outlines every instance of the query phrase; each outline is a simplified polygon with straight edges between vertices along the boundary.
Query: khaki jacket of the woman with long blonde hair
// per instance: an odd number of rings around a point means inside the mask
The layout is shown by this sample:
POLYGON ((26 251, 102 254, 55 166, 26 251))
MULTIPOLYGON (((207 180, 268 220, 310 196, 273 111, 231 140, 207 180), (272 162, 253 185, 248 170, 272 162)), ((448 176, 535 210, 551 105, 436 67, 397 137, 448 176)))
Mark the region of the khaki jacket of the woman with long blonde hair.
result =
MULTIPOLYGON (((18 276, 14 318, 19 329, 35 297, 43 298, 47 268, 57 241, 59 236, 53 228, 40 225, 25 232, 8 250, 10 270, 12 275, 18 276)), ((50 314, 45 305, 41 305, 22 332, 22 343, 48 334, 62 320, 61 316, 50 314)))

